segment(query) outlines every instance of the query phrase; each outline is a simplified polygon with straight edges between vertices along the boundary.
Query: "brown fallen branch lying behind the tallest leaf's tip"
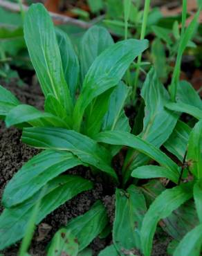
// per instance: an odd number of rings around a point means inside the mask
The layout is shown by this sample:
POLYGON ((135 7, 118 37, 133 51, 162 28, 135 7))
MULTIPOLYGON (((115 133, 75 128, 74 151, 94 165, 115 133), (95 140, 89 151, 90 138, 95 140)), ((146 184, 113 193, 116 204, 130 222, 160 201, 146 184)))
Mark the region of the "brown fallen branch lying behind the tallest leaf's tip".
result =
MULTIPOLYGON (((0 0, 0 6, 6 8, 7 10, 12 10, 13 12, 20 12, 20 7, 18 3, 11 3, 9 1, 0 0)), ((23 5, 22 8, 25 11, 28 10, 28 6, 23 5)), ((72 24, 75 26, 79 26, 80 28, 90 28, 92 26, 92 24, 88 22, 80 21, 79 19, 73 19, 64 15, 59 15, 55 12, 49 12, 49 14, 55 21, 60 21, 63 24, 72 24)))

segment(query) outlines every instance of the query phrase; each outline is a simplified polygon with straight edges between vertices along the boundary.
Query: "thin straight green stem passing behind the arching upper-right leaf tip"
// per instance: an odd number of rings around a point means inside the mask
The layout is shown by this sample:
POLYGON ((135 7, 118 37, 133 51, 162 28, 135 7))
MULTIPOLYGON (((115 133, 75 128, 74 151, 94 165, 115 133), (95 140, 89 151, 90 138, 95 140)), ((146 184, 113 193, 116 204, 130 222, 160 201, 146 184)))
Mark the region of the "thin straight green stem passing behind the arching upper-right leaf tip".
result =
MULTIPOLYGON (((145 38, 146 28, 147 28, 147 18, 149 15, 149 7, 150 7, 150 1, 151 0, 145 0, 145 8, 144 8, 144 14, 143 14, 143 25, 141 28, 141 34, 140 34, 140 40, 143 40, 145 38)), ((132 100, 134 101, 136 98, 136 91, 138 87, 138 78, 140 75, 140 62, 142 60, 142 54, 138 56, 138 62, 137 62, 137 69, 136 69, 136 76, 135 76, 135 82, 134 82, 134 90, 132 94, 132 100)))

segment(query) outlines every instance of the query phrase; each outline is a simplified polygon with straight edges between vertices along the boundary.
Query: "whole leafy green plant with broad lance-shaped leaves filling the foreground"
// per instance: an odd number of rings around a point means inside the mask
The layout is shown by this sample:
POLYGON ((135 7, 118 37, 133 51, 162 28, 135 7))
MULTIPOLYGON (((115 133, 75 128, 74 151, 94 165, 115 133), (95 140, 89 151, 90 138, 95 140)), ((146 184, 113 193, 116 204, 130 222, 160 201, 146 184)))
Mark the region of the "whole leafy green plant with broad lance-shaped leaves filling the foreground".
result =
POLYGON ((96 201, 88 212, 56 232, 48 256, 62 252, 91 255, 91 241, 109 232, 113 244, 100 256, 136 255, 138 251, 149 256, 160 220, 174 238, 174 255, 199 255, 202 101, 192 86, 180 82, 177 102, 171 102, 151 68, 141 89, 145 111, 141 104, 131 131, 124 111, 130 89, 122 77, 148 47, 147 40, 127 39, 114 44, 106 29, 95 26, 85 33, 78 58, 66 33, 54 28, 41 4, 29 8, 24 37, 44 92, 45 111, 21 104, 0 86, 0 116, 7 127, 23 128, 24 143, 44 151, 21 167, 6 185, 0 249, 25 236, 21 248, 25 253, 35 225, 73 196, 91 190, 91 181, 63 174, 84 165, 116 186, 113 227, 109 226, 106 208, 96 201), (178 112, 187 112, 199 122, 192 129, 179 120, 178 112), (127 147, 127 154, 118 175, 111 161, 123 147, 127 147), (169 188, 158 178, 165 178, 169 188), (140 183, 140 179, 151 181, 140 183), (194 216, 191 221, 190 212, 194 216))

